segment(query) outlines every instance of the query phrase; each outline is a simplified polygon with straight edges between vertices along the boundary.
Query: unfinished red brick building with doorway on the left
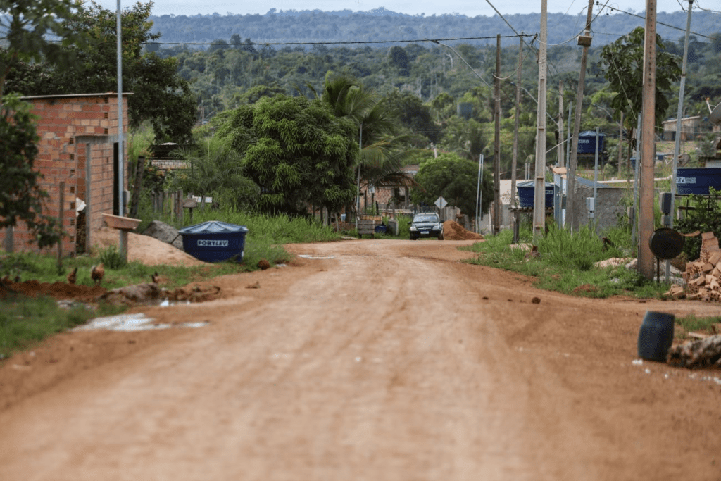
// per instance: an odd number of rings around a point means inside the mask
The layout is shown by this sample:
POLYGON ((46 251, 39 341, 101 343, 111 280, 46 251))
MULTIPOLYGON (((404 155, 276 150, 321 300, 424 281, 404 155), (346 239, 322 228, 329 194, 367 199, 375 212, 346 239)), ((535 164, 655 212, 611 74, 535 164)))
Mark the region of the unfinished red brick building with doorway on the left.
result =
MULTIPOLYGON (((123 138, 128 129, 126 99, 123 94, 123 138)), ((116 187, 120 178, 118 95, 108 92, 23 100, 32 103, 32 112, 38 117, 40 142, 35 169, 43 174, 40 185, 50 194, 43 213, 61 221, 66 232, 60 246, 63 256, 87 252, 92 246, 92 232, 102 226, 102 214, 118 214, 120 206, 116 187)), ((127 175, 123 181, 125 190, 127 175)), ((0 229, 0 246, 8 252, 37 252, 37 245, 30 241, 25 224, 0 229)))

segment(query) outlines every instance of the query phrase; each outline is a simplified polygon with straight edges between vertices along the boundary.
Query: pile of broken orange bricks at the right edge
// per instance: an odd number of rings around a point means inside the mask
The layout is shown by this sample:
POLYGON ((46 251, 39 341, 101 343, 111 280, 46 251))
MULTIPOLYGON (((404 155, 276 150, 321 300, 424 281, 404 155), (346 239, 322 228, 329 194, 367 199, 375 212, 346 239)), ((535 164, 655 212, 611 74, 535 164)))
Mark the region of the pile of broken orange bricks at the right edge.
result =
POLYGON ((671 286, 668 295, 674 299, 686 296, 686 299, 702 301, 721 301, 721 251, 719 240, 713 232, 701 234, 701 255, 694 262, 686 263, 683 273, 686 289, 671 286))

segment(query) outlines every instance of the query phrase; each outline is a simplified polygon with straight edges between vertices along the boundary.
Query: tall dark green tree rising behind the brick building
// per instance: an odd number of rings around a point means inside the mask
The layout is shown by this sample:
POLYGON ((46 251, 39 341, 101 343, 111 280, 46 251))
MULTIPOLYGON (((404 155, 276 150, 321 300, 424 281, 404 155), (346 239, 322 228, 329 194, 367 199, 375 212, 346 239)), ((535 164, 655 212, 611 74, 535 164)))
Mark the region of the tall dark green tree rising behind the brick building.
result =
MULTIPOLYGON (((50 0, 44 0, 50 3, 50 0)), ((149 20, 153 3, 138 1, 121 12, 123 40, 123 90, 128 97, 128 116, 131 127, 143 121, 153 126, 156 141, 187 143, 195 124, 196 102, 190 86, 177 73, 174 58, 161 58, 154 52, 144 52, 146 43, 157 40, 149 20)), ((43 65, 25 65, 25 69, 9 76, 9 90, 22 94, 84 94, 115 92, 118 89, 116 12, 94 1, 76 4, 74 14, 66 16, 61 27, 79 32, 87 38, 87 45, 79 48, 66 45, 56 49, 76 56, 80 64, 72 71, 60 71, 43 56, 43 65), (33 79, 33 80, 29 80, 33 79)))

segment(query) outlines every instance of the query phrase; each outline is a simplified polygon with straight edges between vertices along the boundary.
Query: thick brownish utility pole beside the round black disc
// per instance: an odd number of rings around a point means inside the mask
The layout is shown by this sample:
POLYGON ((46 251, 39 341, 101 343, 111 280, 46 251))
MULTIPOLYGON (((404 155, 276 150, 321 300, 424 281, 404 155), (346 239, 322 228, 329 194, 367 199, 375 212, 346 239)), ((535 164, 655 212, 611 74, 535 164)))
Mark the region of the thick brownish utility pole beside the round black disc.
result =
POLYGON ((653 166, 655 164, 656 109, 656 0, 646 0, 646 32, 643 46, 643 107, 641 144, 641 193, 639 202, 639 273, 653 279, 653 166))

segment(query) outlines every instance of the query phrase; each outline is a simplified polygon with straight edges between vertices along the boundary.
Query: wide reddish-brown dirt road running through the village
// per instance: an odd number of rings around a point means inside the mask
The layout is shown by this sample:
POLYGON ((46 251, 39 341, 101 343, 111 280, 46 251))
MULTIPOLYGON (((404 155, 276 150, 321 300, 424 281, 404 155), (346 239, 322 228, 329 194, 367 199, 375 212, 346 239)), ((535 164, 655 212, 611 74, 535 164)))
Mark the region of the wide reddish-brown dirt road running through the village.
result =
POLYGON ((134 309, 208 327, 13 358, 0 478, 721 480, 721 372, 633 362, 646 310, 718 306, 537 291, 470 243, 291 245, 315 258, 134 309))

